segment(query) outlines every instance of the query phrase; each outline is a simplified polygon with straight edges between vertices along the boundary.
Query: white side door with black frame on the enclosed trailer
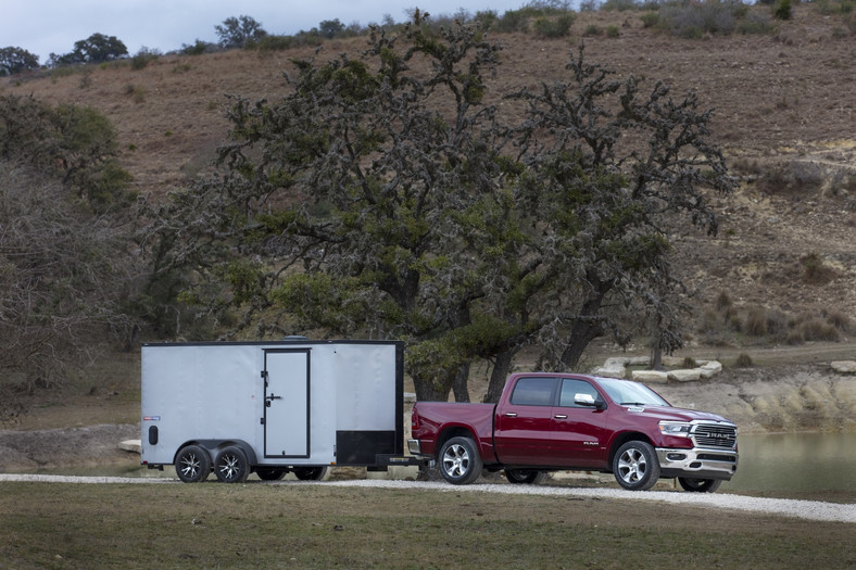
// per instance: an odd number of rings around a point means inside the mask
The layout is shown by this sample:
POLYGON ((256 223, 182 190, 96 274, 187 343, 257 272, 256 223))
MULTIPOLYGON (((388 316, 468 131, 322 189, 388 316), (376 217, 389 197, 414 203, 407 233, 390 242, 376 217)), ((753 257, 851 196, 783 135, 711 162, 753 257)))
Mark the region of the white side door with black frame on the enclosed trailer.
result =
POLYGON ((310 456, 310 350, 265 351, 265 457, 310 456))

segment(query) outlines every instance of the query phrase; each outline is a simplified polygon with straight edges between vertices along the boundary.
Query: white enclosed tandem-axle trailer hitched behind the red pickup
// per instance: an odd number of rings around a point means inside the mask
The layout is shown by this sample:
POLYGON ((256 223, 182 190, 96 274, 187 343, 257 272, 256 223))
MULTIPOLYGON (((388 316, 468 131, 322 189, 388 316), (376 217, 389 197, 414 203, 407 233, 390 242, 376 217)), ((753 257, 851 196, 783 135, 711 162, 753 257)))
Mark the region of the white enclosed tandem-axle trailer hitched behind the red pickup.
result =
POLYGON ((142 346, 142 455, 185 482, 255 471, 320 479, 404 456, 403 343, 309 341, 142 346))

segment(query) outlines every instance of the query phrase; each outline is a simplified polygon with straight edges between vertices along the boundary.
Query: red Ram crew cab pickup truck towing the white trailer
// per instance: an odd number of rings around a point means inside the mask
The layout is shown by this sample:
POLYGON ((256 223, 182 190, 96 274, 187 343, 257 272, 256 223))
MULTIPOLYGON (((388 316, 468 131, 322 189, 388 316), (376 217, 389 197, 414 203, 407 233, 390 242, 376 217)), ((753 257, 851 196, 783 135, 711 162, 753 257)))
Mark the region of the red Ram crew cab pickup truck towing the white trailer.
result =
POLYGON ((495 405, 417 402, 412 428, 411 453, 436 461, 454 484, 482 469, 503 469, 512 483, 586 470, 612 472, 629 490, 678 478, 687 491, 712 493, 738 468, 734 423, 614 378, 515 373, 495 405))

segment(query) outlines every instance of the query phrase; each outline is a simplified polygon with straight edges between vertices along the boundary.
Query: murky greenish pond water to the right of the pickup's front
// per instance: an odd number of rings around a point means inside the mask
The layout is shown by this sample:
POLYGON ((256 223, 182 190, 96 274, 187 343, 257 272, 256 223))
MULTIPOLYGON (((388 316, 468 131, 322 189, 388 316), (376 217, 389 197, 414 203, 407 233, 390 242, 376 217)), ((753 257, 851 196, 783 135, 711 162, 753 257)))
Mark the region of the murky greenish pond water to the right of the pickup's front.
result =
POLYGON ((740 464, 728 491, 856 491, 856 433, 738 436, 740 464))

